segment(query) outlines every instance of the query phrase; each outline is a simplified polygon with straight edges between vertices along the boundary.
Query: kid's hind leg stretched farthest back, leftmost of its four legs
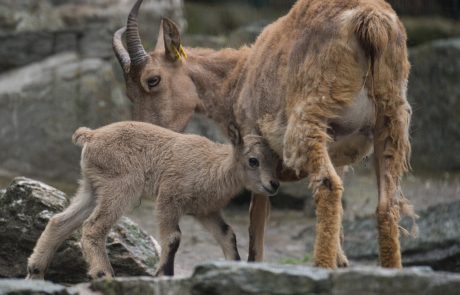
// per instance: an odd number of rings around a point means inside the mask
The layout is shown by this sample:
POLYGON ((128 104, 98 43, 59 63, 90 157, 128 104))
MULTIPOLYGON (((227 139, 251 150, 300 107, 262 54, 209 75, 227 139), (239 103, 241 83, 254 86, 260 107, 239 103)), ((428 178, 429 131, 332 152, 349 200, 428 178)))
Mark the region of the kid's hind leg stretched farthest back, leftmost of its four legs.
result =
POLYGON ((37 241, 27 263, 26 279, 43 279, 59 246, 66 240, 94 209, 95 199, 90 184, 83 179, 69 207, 56 214, 48 222, 37 241))

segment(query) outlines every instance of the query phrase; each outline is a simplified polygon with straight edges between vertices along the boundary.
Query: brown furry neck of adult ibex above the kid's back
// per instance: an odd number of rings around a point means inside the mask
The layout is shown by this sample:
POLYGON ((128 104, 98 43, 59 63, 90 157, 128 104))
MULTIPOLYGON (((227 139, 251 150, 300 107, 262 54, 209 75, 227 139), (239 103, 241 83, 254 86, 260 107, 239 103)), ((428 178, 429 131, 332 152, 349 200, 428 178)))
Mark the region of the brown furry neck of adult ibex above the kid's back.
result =
POLYGON ((199 110, 215 120, 223 130, 233 118, 233 105, 239 95, 238 81, 243 76, 251 49, 187 50, 187 70, 202 101, 199 110))

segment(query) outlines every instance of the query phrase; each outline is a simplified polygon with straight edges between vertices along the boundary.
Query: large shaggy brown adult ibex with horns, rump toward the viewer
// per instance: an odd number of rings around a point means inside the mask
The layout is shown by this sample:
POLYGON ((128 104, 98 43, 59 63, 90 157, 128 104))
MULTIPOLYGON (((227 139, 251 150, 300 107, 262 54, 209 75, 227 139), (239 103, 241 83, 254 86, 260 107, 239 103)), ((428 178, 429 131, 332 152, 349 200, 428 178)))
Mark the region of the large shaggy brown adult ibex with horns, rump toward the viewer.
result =
MULTIPOLYGON (((398 221, 408 206, 400 178, 409 167, 406 33, 383 0, 299 0, 240 49, 186 48, 163 19, 146 53, 137 25, 142 0, 114 35, 134 119, 176 131, 194 112, 223 130, 233 117, 256 130, 283 160, 282 178, 308 175, 316 200, 315 264, 347 265, 340 242, 339 171, 374 149, 380 262, 401 267, 398 221), (188 58, 186 58, 188 56, 188 58), (295 172, 295 173, 293 173, 295 172), (407 205, 407 206, 406 206, 407 205)), ((269 200, 253 195, 249 260, 262 260, 269 200)))

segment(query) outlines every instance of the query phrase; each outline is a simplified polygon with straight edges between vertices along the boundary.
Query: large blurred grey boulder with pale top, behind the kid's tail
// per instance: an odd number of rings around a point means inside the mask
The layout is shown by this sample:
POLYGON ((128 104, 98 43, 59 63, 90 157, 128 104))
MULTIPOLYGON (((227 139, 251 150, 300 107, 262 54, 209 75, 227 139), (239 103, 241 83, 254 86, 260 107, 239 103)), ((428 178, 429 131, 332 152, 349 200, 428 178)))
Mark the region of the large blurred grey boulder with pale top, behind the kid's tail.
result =
POLYGON ((75 182, 80 149, 73 132, 130 117, 112 64, 102 59, 63 53, 6 72, 0 75, 0 168, 75 182))

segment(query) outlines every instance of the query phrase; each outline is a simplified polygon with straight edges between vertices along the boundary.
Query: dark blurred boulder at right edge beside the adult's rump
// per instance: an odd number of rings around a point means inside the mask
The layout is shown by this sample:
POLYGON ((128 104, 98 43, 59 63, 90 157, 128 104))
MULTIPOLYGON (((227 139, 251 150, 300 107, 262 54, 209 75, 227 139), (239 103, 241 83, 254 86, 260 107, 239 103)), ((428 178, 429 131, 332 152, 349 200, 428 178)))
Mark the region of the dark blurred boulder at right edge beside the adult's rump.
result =
POLYGON ((413 48, 410 61, 412 164, 429 171, 459 170, 460 39, 413 48))

